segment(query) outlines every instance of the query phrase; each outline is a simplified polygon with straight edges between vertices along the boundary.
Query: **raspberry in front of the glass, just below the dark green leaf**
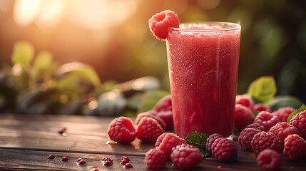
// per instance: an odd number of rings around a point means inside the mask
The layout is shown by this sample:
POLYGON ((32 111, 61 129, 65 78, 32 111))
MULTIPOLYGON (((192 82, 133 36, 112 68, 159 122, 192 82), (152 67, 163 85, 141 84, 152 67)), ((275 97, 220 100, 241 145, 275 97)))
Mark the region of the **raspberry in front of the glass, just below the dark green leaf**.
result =
POLYGON ((193 145, 181 144, 171 153, 173 165, 178 169, 192 169, 202 161, 202 155, 193 145))

